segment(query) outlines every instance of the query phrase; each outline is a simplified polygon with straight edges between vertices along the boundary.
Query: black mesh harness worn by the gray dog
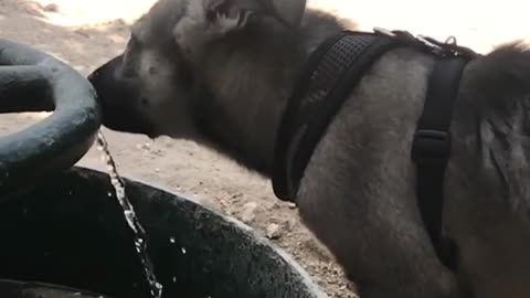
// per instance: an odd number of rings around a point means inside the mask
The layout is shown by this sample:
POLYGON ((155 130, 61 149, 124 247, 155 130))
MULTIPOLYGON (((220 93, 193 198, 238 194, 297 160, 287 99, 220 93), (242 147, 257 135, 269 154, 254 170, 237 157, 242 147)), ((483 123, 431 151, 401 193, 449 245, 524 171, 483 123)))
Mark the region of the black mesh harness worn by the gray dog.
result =
POLYGON ((403 31, 343 31, 326 40, 310 56, 289 99, 275 148, 273 187, 280 200, 293 201, 306 166, 348 94, 385 52, 413 46, 436 57, 426 100, 412 146, 416 193, 423 221, 439 259, 456 266, 455 247, 442 234, 444 177, 451 157, 449 126, 460 76, 478 56, 456 43, 415 38, 403 31))

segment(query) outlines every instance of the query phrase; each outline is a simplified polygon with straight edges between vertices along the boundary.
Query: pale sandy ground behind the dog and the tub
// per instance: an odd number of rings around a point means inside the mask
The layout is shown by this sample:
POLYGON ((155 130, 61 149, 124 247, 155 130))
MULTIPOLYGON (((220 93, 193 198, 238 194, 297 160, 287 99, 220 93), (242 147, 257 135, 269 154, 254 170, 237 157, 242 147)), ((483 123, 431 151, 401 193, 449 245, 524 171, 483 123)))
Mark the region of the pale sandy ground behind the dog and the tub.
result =
MULTIPOLYGON (((29 43, 66 61, 82 74, 118 54, 128 36, 128 23, 153 0, 0 0, 0 38, 29 43)), ((527 24, 522 1, 361 1, 315 0, 315 4, 351 17, 360 29, 406 29, 460 43, 486 52, 492 45, 524 39, 527 24), (520 2, 520 3, 519 3, 520 2), (437 2, 436 2, 437 3, 437 2), (382 8, 382 9, 381 9, 382 8)), ((527 32, 526 32, 527 31, 527 32)), ((45 115, 44 115, 45 116, 45 115)), ((20 130, 42 114, 0 116, 0 134, 20 130)), ((275 199, 269 181, 242 169, 224 157, 193 142, 104 129, 118 170, 183 193, 268 235, 312 275, 332 298, 354 297, 340 268, 318 241, 301 225, 294 206, 275 199)), ((92 149, 80 166, 104 170, 99 152, 92 149)), ((352 232, 354 233, 354 232, 352 232)))

